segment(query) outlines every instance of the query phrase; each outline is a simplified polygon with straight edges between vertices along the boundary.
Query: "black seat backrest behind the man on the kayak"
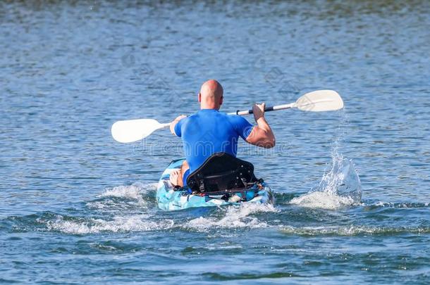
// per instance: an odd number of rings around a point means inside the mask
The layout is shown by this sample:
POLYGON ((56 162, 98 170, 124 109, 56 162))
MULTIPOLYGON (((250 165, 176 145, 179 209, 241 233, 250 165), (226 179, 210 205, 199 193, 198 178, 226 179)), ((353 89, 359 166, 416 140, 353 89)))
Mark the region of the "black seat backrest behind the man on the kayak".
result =
POLYGON ((192 192, 218 192, 243 189, 247 183, 256 182, 254 165, 228 153, 214 153, 187 178, 192 192))

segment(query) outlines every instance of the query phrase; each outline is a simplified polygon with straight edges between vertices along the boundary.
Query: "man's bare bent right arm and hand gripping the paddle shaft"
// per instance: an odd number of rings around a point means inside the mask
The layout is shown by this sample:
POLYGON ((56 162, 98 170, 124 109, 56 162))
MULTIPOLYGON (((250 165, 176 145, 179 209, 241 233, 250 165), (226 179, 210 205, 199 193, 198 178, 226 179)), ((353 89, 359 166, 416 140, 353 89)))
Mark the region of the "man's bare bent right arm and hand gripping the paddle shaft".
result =
POLYGON ((255 104, 252 107, 254 113, 255 122, 257 126, 252 128, 250 135, 246 138, 246 141, 255 146, 262 146, 264 148, 273 148, 276 144, 275 135, 272 132, 271 127, 264 118, 265 104, 255 104))

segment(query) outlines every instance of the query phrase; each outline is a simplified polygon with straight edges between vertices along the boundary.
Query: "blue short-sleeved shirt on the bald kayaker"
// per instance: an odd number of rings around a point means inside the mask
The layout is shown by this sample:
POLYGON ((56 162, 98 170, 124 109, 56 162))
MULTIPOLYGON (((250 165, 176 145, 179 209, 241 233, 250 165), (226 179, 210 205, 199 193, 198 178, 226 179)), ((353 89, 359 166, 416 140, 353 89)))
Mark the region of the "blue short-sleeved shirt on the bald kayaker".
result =
POLYGON ((202 109, 176 124, 175 133, 182 138, 190 172, 193 172, 214 153, 236 156, 238 138, 246 139, 252 125, 239 115, 227 115, 218 110, 202 109))

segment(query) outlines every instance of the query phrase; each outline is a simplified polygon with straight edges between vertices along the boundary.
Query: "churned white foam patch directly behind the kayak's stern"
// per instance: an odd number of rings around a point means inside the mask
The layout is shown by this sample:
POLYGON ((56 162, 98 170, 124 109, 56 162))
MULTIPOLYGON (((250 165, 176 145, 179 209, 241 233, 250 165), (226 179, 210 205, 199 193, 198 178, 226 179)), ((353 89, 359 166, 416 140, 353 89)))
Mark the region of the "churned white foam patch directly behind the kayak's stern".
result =
POLYGON ((240 206, 230 206, 226 208, 224 217, 198 217, 190 220, 185 227, 197 229, 197 231, 207 231, 211 228, 259 228, 268 227, 265 222, 261 222, 257 217, 250 217, 254 213, 278 212, 271 204, 241 204, 240 206))

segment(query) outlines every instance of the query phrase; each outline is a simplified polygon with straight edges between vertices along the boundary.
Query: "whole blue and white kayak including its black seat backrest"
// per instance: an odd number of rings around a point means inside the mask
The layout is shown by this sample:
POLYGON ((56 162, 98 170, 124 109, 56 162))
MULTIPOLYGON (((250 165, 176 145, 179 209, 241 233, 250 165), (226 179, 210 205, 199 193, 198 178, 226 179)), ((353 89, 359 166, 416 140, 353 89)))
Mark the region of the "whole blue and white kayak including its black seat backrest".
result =
POLYGON ((180 169, 184 160, 173 160, 159 179, 156 201, 161 210, 274 201, 266 182, 255 179, 252 164, 227 153, 215 153, 208 158, 188 177, 190 186, 175 187, 170 182, 170 174, 180 169))

